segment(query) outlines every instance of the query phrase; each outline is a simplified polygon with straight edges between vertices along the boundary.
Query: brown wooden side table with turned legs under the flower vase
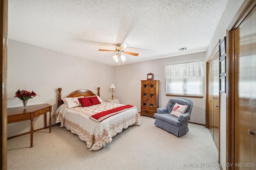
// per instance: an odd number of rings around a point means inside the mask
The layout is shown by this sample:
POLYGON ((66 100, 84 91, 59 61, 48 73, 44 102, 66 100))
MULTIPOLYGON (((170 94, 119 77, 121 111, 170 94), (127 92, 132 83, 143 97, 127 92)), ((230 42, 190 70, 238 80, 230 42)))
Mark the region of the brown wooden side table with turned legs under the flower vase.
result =
POLYGON ((47 118, 46 113, 50 112, 49 116, 49 129, 51 133, 51 124, 52 124, 52 106, 49 104, 37 104, 28 106, 27 109, 23 109, 23 107, 12 107, 7 108, 7 123, 16 123, 19 121, 31 120, 30 123, 30 147, 33 147, 33 131, 34 131, 34 117, 40 116, 44 114, 45 117, 45 124, 44 128, 47 128, 47 118))

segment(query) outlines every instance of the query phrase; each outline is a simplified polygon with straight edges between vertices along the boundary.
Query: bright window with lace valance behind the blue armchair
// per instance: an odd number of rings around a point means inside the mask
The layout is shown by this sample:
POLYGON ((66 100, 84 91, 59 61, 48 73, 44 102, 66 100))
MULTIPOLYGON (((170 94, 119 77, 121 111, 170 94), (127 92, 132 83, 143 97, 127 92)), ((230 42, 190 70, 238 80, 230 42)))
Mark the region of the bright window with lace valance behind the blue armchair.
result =
POLYGON ((166 65, 166 93, 202 96, 203 62, 166 65))

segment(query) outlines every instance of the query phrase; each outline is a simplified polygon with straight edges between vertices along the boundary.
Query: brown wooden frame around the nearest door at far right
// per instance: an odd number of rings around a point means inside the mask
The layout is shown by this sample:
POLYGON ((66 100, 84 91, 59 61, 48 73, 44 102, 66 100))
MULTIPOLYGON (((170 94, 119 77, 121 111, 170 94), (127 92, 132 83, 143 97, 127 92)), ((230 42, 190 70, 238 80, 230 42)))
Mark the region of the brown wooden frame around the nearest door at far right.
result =
MULTIPOLYGON (((256 6, 256 0, 245 0, 227 28, 227 98, 226 98, 226 163, 234 164, 234 32, 250 11, 256 6)), ((226 167, 234 170, 234 166, 226 167)))

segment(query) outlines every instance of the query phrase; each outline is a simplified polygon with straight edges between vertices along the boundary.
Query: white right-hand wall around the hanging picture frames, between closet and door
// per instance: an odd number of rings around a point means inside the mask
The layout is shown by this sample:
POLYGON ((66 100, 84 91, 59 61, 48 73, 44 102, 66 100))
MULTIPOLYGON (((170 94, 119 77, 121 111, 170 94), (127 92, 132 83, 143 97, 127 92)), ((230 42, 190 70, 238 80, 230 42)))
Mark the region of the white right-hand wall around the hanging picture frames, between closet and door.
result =
MULTIPOLYGON (((226 10, 206 51, 206 60, 210 57, 219 39, 222 40, 226 36, 226 29, 243 2, 244 0, 230 0, 228 2, 226 10)), ((226 93, 220 93, 220 163, 226 163, 226 93)), ((226 167, 222 168, 224 170, 226 169, 226 167)))

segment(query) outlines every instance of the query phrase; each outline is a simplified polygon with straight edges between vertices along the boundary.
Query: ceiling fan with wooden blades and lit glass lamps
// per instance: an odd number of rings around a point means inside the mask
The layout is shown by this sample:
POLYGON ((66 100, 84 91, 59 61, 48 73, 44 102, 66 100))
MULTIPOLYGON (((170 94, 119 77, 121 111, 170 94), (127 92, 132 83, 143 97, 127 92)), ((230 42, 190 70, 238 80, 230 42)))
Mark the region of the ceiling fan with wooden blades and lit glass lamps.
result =
POLYGON ((120 60, 122 60, 122 62, 124 63, 124 61, 126 61, 126 57, 125 55, 122 55, 122 53, 124 54, 128 54, 128 55, 134 55, 134 56, 138 56, 138 53, 132 53, 132 52, 128 52, 128 51, 124 51, 124 49, 128 47, 128 44, 126 43, 121 43, 118 44, 116 47, 116 50, 104 50, 104 49, 99 49, 99 51, 112 51, 112 52, 117 52, 116 55, 113 55, 113 59, 114 61, 116 61, 116 63, 119 62, 120 65, 120 60))

